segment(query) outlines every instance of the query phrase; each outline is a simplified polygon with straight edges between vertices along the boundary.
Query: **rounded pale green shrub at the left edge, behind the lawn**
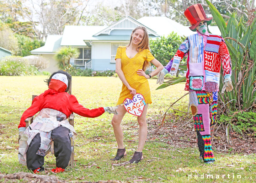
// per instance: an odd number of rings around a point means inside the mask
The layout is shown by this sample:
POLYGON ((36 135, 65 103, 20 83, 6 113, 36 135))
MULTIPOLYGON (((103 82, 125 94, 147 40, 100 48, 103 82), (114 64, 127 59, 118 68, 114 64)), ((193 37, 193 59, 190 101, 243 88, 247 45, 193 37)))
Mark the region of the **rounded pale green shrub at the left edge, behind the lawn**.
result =
POLYGON ((38 70, 21 56, 6 56, 0 60, 0 75, 25 76, 35 75, 38 70))

